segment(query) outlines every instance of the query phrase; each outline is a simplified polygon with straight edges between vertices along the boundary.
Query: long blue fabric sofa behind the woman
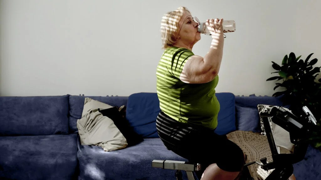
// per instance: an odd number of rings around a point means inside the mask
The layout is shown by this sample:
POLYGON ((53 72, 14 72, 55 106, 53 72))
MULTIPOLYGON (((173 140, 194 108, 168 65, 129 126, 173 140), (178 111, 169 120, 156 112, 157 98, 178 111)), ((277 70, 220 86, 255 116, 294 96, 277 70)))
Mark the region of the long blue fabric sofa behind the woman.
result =
MULTIPOLYGON (((257 104, 283 105, 281 99, 269 96, 216 96, 221 110, 215 132, 221 135, 255 131, 257 104)), ((152 160, 187 161, 167 150, 158 137, 159 111, 156 93, 0 97, 0 179, 175 179, 174 170, 152 168, 152 160), (81 145, 76 123, 85 97, 111 106, 125 105, 126 119, 144 141, 109 152, 81 145)), ((320 162, 321 152, 309 146, 306 158, 294 164, 297 179, 321 179, 320 162)), ((187 179, 185 173, 183 178, 187 179)))

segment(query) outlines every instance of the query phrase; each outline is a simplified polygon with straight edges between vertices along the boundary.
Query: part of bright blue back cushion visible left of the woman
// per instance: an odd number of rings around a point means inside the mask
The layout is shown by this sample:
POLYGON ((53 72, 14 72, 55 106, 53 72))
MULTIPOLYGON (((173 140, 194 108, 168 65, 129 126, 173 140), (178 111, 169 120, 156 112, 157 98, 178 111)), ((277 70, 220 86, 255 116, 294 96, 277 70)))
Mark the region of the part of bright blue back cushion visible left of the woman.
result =
POLYGON ((126 119, 131 127, 144 138, 159 137, 156 118, 160 113, 160 102, 156 93, 135 93, 128 97, 126 119))

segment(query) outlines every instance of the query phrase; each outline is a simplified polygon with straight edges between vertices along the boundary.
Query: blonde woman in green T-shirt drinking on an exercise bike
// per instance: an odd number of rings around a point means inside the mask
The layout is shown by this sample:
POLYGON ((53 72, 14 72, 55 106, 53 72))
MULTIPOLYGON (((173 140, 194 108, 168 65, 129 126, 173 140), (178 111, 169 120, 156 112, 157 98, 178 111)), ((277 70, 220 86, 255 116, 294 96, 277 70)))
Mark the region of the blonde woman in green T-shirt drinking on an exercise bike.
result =
POLYGON ((214 133, 220 110, 215 87, 223 55, 222 22, 206 20, 212 43, 202 57, 192 52, 201 35, 187 8, 168 12, 161 21, 165 51, 156 72, 161 109, 157 131, 169 150, 202 165, 203 171, 196 173, 202 180, 233 180, 244 165, 239 146, 214 133))

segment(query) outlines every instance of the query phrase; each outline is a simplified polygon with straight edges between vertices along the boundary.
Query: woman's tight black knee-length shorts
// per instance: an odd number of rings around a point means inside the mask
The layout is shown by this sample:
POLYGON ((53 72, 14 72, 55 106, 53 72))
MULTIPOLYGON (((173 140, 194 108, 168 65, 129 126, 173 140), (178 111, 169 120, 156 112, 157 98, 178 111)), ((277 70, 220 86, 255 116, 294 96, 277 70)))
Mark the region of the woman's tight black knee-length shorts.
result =
POLYGON ((197 176, 213 163, 229 172, 241 171, 245 163, 239 146, 214 130, 180 123, 162 111, 157 116, 156 127, 167 149, 191 163, 201 164, 202 170, 196 173, 197 176))

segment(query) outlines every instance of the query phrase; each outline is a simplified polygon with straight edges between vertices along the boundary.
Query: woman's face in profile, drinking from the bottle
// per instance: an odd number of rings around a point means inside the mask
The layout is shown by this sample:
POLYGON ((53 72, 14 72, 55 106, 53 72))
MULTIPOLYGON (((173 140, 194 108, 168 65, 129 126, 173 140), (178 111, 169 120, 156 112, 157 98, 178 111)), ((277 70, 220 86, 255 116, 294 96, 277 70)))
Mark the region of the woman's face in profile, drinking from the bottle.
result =
POLYGON ((201 33, 198 32, 198 23, 194 21, 192 15, 188 12, 183 14, 183 18, 185 18, 185 20, 178 33, 180 40, 183 41, 184 44, 194 45, 201 39, 201 33))

